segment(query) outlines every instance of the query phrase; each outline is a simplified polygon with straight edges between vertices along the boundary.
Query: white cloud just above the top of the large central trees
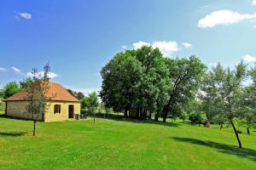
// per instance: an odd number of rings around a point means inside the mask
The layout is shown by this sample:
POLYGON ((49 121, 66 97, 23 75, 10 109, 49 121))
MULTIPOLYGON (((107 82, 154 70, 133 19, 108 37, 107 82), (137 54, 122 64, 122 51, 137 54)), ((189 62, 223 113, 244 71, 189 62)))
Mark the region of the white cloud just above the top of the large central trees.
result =
POLYGON ((166 55, 173 54, 174 52, 177 52, 179 50, 179 48, 177 47, 177 42, 163 41, 163 42, 149 43, 149 42, 140 41, 140 42, 132 43, 132 45, 135 49, 142 48, 143 46, 152 46, 153 48, 159 48, 160 51, 166 55))

